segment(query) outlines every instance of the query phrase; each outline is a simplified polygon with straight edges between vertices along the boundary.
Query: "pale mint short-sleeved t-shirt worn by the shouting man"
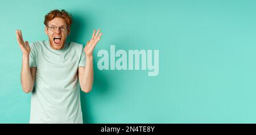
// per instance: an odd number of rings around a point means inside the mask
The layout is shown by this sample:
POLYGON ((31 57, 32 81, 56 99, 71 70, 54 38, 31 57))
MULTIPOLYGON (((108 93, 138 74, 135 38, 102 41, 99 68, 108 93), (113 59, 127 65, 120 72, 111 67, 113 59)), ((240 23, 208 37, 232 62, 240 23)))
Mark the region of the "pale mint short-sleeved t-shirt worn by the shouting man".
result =
POLYGON ((65 43, 55 50, 49 41, 37 41, 30 48, 30 67, 36 67, 30 123, 82 123, 77 75, 85 66, 82 45, 65 43))

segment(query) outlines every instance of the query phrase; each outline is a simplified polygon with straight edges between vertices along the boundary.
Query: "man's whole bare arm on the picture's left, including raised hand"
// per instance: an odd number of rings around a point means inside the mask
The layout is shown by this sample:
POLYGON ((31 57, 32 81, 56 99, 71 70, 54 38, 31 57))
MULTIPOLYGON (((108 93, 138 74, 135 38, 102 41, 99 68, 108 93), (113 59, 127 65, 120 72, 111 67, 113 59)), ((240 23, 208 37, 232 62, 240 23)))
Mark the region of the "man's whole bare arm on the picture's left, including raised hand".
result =
POLYGON ((30 46, 28 45, 28 41, 23 41, 22 32, 20 30, 16 30, 16 38, 22 50, 20 81, 22 83, 22 90, 28 93, 32 91, 34 87, 36 68, 29 67, 30 46))

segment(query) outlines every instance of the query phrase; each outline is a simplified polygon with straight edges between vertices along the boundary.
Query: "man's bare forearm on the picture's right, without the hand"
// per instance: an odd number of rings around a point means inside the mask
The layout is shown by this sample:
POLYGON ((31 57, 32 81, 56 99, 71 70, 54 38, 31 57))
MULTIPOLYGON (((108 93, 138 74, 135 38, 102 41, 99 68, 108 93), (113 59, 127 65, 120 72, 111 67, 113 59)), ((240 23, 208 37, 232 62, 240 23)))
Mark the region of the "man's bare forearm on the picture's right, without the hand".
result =
POLYGON ((92 91, 93 85, 93 57, 86 56, 86 67, 82 75, 82 82, 80 84, 82 91, 88 93, 92 91))

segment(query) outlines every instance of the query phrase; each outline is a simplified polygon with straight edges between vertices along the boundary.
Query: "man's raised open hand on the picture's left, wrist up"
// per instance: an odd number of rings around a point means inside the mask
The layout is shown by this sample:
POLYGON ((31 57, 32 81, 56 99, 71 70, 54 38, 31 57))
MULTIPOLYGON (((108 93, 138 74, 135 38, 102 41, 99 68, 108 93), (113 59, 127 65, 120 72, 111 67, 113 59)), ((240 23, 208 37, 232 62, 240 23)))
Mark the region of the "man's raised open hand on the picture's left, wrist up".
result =
POLYGON ((23 40, 22 32, 18 29, 16 29, 16 36, 17 41, 19 43, 19 47, 22 50, 23 55, 29 55, 30 54, 30 45, 28 45, 28 41, 23 40))

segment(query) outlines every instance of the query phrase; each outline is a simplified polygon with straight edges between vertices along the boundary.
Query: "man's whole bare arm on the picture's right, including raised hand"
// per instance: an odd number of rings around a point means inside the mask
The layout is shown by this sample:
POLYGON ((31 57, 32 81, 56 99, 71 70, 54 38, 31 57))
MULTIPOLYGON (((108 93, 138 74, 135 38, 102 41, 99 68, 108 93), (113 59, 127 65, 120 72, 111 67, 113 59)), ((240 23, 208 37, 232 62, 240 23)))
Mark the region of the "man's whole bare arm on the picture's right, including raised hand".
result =
POLYGON ((79 74, 79 83, 81 90, 88 93, 92 91, 92 85, 93 85, 93 50, 100 41, 100 37, 102 33, 99 34, 100 29, 98 29, 96 35, 95 35, 96 30, 94 29, 92 39, 87 42, 84 48, 85 52, 85 60, 86 60, 86 66, 84 67, 79 67, 78 69, 78 74, 79 74))

